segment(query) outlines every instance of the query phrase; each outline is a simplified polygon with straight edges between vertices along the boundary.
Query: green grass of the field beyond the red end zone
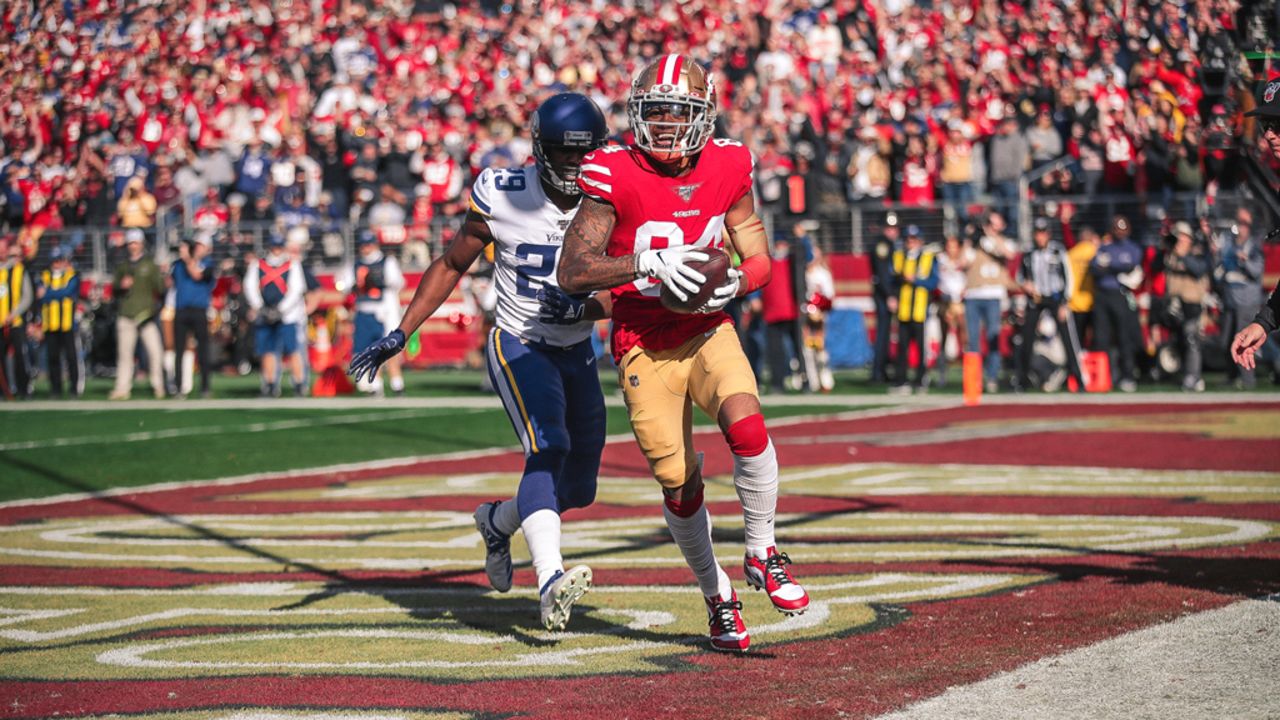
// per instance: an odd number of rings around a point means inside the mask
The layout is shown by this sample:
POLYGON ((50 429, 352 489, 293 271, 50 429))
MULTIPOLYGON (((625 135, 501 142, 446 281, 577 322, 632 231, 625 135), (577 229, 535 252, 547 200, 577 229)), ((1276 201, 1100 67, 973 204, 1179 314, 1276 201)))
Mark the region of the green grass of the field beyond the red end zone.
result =
MULTIPOLYGON (((783 418, 831 407, 769 407, 783 418)), ((695 414, 699 424, 709 420, 695 414)), ((611 434, 628 433, 609 407, 611 434)), ((516 447, 506 413, 352 407, 0 413, 0 501, 344 462, 516 447)))

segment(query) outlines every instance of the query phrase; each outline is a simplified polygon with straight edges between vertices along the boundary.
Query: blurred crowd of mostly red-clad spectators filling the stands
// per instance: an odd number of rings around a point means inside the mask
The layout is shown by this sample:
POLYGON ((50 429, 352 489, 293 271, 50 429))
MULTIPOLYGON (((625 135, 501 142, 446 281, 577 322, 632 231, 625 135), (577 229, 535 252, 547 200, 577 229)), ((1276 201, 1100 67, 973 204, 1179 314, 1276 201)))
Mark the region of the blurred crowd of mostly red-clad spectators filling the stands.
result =
POLYGON ((6 1, 0 222, 33 269, 55 246, 83 264, 82 228, 122 231, 113 266, 127 231, 196 237, 233 296, 271 236, 337 261, 326 238, 369 227, 420 266, 480 169, 527 161, 539 100, 586 92, 626 140, 632 74, 687 51, 765 211, 938 202, 972 245, 984 206, 1016 225, 1018 179, 1062 158, 1039 192, 1230 187, 1226 78, 1274 41, 1260 20, 1235 0, 6 1))

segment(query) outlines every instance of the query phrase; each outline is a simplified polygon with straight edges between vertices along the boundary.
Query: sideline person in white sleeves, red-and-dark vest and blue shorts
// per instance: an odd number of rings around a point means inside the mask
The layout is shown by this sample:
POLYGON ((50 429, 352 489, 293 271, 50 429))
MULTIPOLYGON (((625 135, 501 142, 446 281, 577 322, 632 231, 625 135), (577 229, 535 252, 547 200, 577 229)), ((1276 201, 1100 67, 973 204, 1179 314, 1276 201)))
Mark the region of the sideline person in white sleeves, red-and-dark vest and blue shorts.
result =
POLYGON ((293 393, 306 395, 300 328, 306 322, 307 279, 302 264, 285 252, 284 236, 271 233, 265 258, 244 272, 244 301, 253 315, 253 348, 261 363, 262 397, 280 396, 280 365, 289 369, 293 393))

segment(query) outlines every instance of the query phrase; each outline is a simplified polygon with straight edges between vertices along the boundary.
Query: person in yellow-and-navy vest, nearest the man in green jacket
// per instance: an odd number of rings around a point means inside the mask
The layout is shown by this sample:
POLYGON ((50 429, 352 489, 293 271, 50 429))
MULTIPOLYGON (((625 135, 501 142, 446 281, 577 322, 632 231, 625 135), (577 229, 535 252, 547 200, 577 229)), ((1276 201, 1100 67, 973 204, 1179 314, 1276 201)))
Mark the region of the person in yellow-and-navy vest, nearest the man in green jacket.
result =
POLYGON ((49 387, 54 397, 64 397, 63 366, 73 397, 84 391, 77 333, 77 305, 81 278, 72 266, 72 249, 61 245, 54 249, 49 269, 40 274, 41 320, 45 331, 45 354, 49 364, 49 387))

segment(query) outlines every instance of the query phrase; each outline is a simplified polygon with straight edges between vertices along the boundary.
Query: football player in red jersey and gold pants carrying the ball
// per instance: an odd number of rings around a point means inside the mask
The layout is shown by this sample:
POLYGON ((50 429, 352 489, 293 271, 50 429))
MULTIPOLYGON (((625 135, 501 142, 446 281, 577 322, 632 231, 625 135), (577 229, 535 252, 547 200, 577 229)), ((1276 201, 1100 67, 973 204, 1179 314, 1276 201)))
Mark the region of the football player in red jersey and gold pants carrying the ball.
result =
POLYGON ((692 447, 692 405, 719 423, 733 452, 733 486, 746 524, 746 580, 795 615, 809 596, 777 551, 778 462, 764 429, 755 375, 722 309, 769 281, 768 242, 751 192, 754 160, 731 140, 713 140, 716 90, 691 58, 664 55, 631 86, 635 142, 582 159, 582 205, 564 233, 558 279, 570 293, 612 288, 613 359, 636 442, 664 493, 667 527, 698 578, 712 647, 750 643, 741 602, 712 550, 703 477, 692 447), (685 264, 724 245, 742 263, 692 314, 659 300, 684 299, 707 278, 685 264))

